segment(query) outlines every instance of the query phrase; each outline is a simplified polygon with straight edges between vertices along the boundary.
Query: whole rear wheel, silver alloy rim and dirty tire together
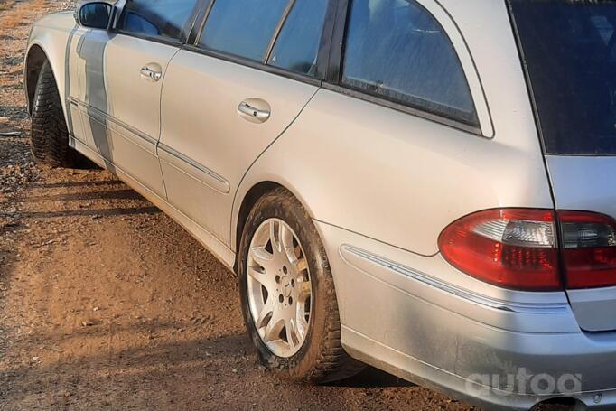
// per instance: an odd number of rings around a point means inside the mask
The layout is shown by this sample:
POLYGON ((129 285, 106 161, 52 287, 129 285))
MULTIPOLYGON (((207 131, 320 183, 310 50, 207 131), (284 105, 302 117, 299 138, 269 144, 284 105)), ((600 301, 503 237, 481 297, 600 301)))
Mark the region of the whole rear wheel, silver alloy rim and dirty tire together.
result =
POLYGON ((269 192, 250 212, 238 276, 247 332, 268 369, 312 383, 349 378, 363 369, 341 346, 321 238, 289 191, 269 192))

